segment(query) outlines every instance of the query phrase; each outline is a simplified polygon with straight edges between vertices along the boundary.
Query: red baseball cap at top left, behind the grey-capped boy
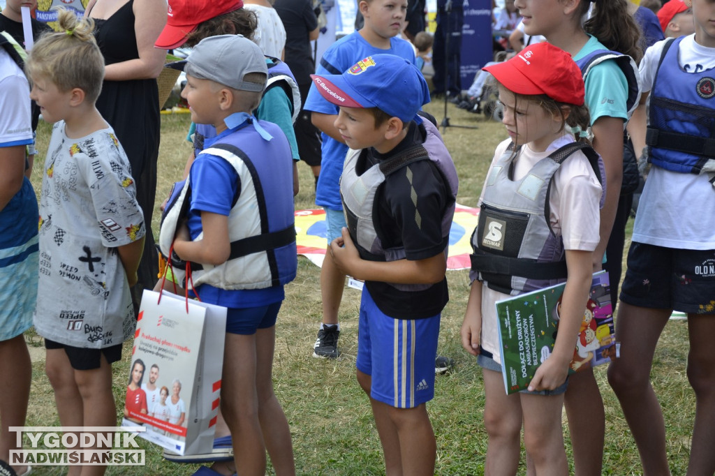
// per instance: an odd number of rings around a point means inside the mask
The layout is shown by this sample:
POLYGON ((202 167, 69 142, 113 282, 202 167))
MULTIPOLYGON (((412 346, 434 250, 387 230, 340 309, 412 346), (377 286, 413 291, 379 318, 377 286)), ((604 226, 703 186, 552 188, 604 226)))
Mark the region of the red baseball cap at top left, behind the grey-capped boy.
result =
POLYGON ((199 24, 242 6, 243 0, 169 0, 167 24, 154 46, 162 49, 178 48, 199 24))

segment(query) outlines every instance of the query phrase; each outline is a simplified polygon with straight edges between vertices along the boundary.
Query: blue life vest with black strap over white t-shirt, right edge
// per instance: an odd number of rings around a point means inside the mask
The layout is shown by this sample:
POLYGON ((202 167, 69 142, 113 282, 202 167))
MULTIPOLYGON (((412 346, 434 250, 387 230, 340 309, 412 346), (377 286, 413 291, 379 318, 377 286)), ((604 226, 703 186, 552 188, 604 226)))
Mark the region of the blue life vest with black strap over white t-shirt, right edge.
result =
POLYGON ((715 165, 715 68, 686 73, 678 63, 683 37, 668 41, 653 79, 646 145, 648 162, 699 174, 715 165))

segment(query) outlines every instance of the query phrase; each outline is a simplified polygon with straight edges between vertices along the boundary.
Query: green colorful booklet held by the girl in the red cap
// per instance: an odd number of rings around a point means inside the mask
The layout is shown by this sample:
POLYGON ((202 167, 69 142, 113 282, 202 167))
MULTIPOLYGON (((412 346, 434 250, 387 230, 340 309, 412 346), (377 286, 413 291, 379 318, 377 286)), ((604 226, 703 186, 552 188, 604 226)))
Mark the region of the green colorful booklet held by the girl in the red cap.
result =
MULTIPOLYGON (((507 394, 526 389, 556 342, 558 311, 566 283, 520 294, 496 303, 501 369, 507 394)), ((618 357, 608 273, 593 274, 591 294, 574 339, 569 373, 605 364, 618 357)))

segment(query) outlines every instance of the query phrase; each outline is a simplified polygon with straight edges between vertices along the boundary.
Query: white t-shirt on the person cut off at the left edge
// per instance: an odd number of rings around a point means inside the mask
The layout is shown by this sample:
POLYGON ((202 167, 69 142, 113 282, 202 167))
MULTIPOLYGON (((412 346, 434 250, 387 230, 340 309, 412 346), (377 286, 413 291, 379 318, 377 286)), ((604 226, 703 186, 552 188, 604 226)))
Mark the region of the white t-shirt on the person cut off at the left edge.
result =
POLYGON ((26 145, 32 142, 30 86, 22 70, 4 49, 0 48, 0 91, 20 91, 21 94, 0 94, 0 144, 2 147, 26 145), (5 111, 18 111, 6 114, 5 111))

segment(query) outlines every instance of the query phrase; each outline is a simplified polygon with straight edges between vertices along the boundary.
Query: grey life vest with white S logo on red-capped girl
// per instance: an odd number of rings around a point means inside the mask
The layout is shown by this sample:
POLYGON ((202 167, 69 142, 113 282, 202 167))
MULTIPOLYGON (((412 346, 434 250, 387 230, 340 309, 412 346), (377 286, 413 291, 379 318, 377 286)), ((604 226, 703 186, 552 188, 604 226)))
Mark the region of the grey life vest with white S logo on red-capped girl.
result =
POLYGON ((566 280, 563 240, 551 229, 549 194, 553 175, 580 150, 601 182, 600 156, 571 142, 537 162, 521 180, 511 179, 513 143, 493 165, 485 183, 478 227, 472 234, 470 277, 516 296, 566 280))

